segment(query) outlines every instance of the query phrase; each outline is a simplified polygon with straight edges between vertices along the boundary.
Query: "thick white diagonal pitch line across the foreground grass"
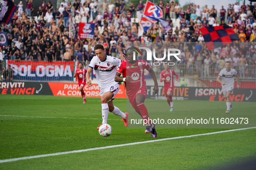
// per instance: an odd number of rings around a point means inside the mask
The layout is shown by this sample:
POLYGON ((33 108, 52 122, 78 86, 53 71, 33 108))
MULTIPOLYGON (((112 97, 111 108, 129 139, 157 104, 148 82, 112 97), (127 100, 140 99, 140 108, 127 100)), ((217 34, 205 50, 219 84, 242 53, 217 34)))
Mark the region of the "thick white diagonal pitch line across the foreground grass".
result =
POLYGON ((79 152, 86 152, 86 151, 95 151, 95 150, 100 150, 100 149, 116 148, 116 147, 129 146, 129 145, 138 145, 138 144, 167 141, 167 140, 173 140, 173 139, 191 138, 191 137, 195 137, 195 136, 212 135, 212 134, 217 134, 217 133, 233 132, 233 131, 246 130, 246 129, 256 129, 256 127, 243 128, 243 129, 231 129, 231 130, 203 133, 203 134, 197 134, 197 135, 178 136, 178 137, 174 137, 174 138, 156 139, 156 140, 144 141, 144 142, 133 142, 133 143, 126 143, 126 144, 121 144, 121 145, 104 146, 104 147, 100 147, 100 148, 89 148, 89 149, 82 149, 82 150, 76 150, 76 151, 58 152, 58 153, 54 153, 54 154, 40 154, 40 155, 29 156, 29 157, 18 157, 18 158, 0 160, 0 163, 13 162, 13 161, 32 159, 32 158, 39 158, 39 157, 56 156, 56 155, 61 155, 61 154, 72 154, 72 153, 79 153, 79 152))

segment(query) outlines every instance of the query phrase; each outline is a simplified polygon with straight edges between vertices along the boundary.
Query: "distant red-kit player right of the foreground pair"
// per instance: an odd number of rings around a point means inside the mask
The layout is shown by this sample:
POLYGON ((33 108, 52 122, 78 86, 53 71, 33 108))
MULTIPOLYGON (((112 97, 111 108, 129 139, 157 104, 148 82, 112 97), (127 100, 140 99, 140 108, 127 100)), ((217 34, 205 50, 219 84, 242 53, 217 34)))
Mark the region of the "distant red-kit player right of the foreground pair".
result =
POLYGON ((172 70, 169 69, 169 65, 166 64, 165 66, 165 70, 163 70, 161 72, 161 76, 160 76, 160 82, 164 81, 165 83, 165 97, 167 98, 167 102, 168 104, 171 106, 171 111, 174 110, 174 106, 173 106, 173 101, 172 101, 172 91, 174 88, 174 81, 173 81, 173 76, 176 76, 176 81, 178 81, 178 74, 172 70))

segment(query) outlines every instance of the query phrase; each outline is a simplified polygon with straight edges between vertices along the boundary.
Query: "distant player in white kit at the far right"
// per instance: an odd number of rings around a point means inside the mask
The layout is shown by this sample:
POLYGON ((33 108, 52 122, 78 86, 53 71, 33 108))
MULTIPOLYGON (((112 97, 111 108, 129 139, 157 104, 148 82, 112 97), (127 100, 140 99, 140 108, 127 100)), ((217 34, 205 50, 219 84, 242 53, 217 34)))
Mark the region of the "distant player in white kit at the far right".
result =
POLYGON ((230 94, 233 93, 234 89, 234 77, 237 79, 237 88, 240 88, 239 85, 239 76, 237 75, 237 71, 235 69, 230 68, 230 61, 225 62, 224 69, 220 70, 219 76, 217 77, 217 82, 222 85, 222 92, 226 98, 227 111, 229 113, 232 110, 232 102, 230 101, 230 94), (220 80, 221 77, 221 80, 220 80))

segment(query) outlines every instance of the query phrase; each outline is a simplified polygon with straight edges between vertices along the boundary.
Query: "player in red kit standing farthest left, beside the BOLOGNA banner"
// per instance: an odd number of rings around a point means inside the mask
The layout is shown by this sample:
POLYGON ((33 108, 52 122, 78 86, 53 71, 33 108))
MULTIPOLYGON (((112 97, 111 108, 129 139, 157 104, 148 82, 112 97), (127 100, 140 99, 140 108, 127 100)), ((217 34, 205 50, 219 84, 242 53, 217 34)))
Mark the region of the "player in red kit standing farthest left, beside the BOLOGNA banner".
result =
POLYGON ((78 69, 75 70, 74 78, 78 76, 78 85, 79 85, 79 90, 81 91, 82 98, 84 100, 84 104, 86 103, 85 99, 85 93, 84 93, 84 86, 86 85, 86 69, 83 69, 83 64, 79 63, 78 64, 78 69))

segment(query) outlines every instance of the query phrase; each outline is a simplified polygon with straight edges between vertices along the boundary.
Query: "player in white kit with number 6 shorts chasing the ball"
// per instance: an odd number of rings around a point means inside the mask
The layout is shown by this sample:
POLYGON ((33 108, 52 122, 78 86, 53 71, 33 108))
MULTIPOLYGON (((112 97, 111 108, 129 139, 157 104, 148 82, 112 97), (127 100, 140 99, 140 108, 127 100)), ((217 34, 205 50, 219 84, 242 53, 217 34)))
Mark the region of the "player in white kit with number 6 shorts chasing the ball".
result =
MULTIPOLYGON (((91 87, 90 74, 92 69, 95 69, 97 85, 100 87, 101 95, 101 112, 102 112, 102 124, 107 123, 108 112, 122 117, 125 127, 128 126, 128 113, 123 113, 118 107, 113 105, 114 96, 119 90, 119 84, 115 82, 115 75, 117 66, 121 63, 120 59, 107 56, 103 45, 97 44, 94 47, 95 54, 88 66, 86 73, 87 85, 91 87)), ((99 127, 97 127, 99 129, 99 127)))

